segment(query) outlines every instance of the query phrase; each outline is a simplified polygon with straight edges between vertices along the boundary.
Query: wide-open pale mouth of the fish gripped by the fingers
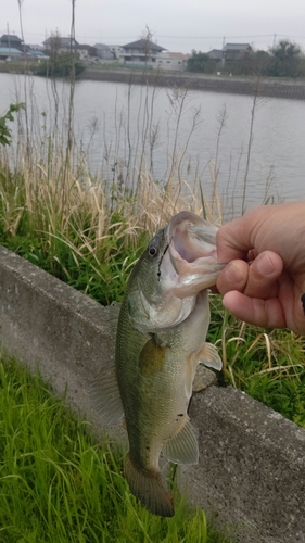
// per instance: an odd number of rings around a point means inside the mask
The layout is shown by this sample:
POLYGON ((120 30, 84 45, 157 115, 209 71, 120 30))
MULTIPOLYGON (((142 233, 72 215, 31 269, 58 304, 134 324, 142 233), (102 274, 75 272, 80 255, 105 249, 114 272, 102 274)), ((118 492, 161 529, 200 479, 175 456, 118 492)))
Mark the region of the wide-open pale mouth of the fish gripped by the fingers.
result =
MULTIPOLYGON (((180 295, 198 293, 216 283, 225 264, 217 264, 218 228, 191 212, 175 215, 168 224, 167 253, 177 274, 180 295)), ((167 258, 168 262, 168 258, 167 258)))

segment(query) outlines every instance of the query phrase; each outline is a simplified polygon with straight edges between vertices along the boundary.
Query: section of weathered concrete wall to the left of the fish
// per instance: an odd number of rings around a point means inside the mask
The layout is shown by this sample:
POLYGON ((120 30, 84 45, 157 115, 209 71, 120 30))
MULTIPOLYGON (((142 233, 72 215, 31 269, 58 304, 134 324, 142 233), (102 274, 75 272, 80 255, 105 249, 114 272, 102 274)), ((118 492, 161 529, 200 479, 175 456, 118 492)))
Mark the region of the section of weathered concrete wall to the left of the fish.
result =
POLYGON ((109 311, 0 247, 0 343, 37 366, 76 409, 90 412, 88 390, 113 356, 109 311))

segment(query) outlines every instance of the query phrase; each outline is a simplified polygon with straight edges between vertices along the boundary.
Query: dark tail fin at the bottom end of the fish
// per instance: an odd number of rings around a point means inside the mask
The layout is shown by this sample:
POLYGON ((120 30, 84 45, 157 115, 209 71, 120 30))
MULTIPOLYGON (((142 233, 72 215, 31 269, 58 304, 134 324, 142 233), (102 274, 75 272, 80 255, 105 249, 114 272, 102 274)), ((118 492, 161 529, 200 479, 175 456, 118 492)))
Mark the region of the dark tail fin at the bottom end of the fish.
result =
POLYGON ((129 453, 125 458, 124 471, 130 491, 150 513, 161 517, 175 515, 173 498, 165 489, 160 472, 138 468, 129 453))

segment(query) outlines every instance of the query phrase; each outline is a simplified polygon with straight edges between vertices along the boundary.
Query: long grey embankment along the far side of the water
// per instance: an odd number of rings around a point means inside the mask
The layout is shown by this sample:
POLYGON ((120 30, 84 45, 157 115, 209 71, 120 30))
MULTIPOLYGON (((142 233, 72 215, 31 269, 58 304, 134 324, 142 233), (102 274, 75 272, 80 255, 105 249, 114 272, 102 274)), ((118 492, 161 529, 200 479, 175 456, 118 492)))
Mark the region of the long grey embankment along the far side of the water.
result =
POLYGON ((305 100, 305 81, 279 80, 274 78, 213 76, 190 73, 170 73, 131 70, 87 68, 77 80, 132 83, 134 85, 156 85, 158 87, 188 87, 193 90, 226 92, 232 94, 254 94, 262 97, 305 100))

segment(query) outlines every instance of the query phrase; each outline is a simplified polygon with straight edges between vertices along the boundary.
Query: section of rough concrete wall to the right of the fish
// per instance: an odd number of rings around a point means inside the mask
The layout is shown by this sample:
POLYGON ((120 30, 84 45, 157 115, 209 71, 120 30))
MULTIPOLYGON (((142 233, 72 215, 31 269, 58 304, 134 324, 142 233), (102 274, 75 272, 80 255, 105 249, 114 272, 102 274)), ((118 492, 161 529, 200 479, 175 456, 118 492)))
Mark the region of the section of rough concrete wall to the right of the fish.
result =
POLYGON ((232 387, 193 396, 190 416, 200 462, 181 479, 191 502, 241 543, 305 542, 305 430, 232 387))

